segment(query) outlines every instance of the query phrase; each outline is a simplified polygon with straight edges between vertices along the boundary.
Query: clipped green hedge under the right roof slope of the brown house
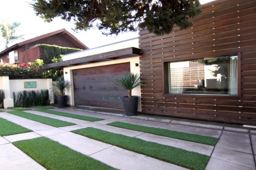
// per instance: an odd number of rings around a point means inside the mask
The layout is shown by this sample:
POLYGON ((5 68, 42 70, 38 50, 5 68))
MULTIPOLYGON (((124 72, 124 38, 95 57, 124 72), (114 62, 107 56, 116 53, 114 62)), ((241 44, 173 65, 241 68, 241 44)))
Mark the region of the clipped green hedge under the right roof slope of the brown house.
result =
POLYGON ((60 58, 61 55, 70 54, 73 52, 81 51, 82 49, 75 49, 69 47, 61 47, 55 45, 47 45, 47 44, 40 44, 38 45, 40 48, 41 54, 40 59, 44 60, 45 64, 52 63, 53 58, 60 58))

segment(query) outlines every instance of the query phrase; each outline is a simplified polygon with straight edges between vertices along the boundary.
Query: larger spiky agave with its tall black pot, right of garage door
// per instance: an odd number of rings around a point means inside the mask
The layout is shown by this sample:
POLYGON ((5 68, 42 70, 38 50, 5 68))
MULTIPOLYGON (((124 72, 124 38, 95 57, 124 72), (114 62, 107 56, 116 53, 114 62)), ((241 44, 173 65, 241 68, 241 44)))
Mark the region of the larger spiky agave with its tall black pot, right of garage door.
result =
POLYGON ((144 85, 140 82, 140 76, 134 73, 128 73, 122 78, 116 78, 116 85, 122 86, 128 90, 128 96, 123 97, 123 104, 125 108, 125 115, 133 116, 138 112, 138 96, 132 96, 131 90, 137 86, 144 85))

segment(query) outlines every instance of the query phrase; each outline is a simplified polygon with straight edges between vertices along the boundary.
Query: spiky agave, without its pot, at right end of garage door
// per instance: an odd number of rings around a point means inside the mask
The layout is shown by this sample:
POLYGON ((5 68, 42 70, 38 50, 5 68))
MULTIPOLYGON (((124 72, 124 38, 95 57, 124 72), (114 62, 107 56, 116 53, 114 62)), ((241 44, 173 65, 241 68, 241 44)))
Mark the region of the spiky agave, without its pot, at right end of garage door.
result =
POLYGON ((140 76, 137 73, 128 73, 122 78, 116 78, 116 85, 122 86, 124 89, 128 90, 128 97, 131 98, 131 90, 137 86, 144 85, 143 82, 140 82, 140 76))

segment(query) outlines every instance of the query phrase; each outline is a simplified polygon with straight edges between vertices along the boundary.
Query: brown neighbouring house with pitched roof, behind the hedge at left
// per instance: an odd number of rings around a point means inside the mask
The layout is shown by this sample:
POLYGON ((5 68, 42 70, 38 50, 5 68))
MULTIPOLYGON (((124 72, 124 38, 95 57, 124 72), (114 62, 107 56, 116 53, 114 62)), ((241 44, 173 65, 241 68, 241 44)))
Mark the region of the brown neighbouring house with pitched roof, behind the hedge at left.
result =
POLYGON ((32 38, 30 40, 17 43, 0 52, 0 63, 28 63, 35 62, 40 58, 41 50, 38 44, 56 45, 76 49, 88 49, 81 41, 70 32, 61 29, 46 35, 32 38))

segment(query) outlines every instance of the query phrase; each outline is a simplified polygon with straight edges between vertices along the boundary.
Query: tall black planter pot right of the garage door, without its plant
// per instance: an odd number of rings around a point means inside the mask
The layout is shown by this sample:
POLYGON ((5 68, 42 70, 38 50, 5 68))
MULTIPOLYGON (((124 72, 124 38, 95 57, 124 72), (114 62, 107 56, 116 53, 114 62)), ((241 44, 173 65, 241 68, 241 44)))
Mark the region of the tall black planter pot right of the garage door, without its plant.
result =
POLYGON ((125 107, 125 115, 134 116, 138 112, 138 96, 128 96, 123 97, 123 103, 125 107))

